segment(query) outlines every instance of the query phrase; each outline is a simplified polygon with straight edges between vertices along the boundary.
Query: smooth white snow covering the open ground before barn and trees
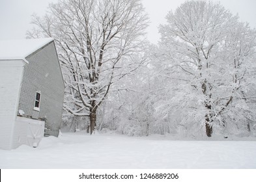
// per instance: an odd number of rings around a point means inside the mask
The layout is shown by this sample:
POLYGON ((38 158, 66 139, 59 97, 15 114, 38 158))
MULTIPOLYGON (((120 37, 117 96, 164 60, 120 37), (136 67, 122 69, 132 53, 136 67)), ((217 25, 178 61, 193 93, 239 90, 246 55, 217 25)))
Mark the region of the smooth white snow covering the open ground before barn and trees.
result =
POLYGON ((164 136, 43 138, 38 148, 0 150, 0 168, 256 168, 256 141, 168 140, 164 136))

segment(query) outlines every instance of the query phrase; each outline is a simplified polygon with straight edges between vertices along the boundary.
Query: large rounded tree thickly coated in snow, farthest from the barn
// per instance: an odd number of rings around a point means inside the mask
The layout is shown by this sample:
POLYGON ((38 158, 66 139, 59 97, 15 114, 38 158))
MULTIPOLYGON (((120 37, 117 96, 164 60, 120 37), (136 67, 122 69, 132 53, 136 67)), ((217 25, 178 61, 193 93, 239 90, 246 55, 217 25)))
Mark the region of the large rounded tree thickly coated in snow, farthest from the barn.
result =
POLYGON ((160 33, 171 92, 158 108, 164 116, 193 132, 204 125, 207 136, 213 127, 255 124, 247 103, 255 84, 255 30, 218 3, 187 1, 169 12, 160 33))

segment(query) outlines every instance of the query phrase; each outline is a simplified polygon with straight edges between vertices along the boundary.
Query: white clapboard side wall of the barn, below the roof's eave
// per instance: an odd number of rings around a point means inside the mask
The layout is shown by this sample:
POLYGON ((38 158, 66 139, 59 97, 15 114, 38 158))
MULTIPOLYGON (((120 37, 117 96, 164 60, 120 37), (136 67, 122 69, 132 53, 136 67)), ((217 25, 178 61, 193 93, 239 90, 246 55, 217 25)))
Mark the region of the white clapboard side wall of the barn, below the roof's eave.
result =
POLYGON ((23 60, 0 60, 0 149, 12 148, 23 60))

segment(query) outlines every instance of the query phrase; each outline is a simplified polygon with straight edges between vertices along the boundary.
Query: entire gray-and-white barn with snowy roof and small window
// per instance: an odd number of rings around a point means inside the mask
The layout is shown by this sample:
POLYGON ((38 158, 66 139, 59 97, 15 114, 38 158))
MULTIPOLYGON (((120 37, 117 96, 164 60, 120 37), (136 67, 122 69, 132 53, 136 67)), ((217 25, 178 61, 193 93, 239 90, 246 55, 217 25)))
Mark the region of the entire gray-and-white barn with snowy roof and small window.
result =
POLYGON ((58 136, 63 97, 52 38, 0 40, 0 149, 58 136))

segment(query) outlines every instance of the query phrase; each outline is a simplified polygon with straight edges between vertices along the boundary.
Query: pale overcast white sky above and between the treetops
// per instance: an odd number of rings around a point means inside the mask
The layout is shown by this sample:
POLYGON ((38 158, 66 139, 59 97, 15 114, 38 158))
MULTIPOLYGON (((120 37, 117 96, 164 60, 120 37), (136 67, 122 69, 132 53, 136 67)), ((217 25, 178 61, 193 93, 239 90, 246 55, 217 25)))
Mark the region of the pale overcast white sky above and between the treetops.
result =
MULTIPOLYGON (((158 25, 165 23, 167 12, 175 10, 184 1, 142 0, 151 21, 147 31, 152 43, 157 43, 160 38, 158 25)), ((57 0, 0 0, 0 40, 25 38, 25 32, 31 27, 31 14, 36 12, 43 15, 50 2, 57 0)), ((256 27, 255 0, 220 0, 220 3, 233 14, 238 13, 242 21, 248 21, 251 27, 256 27)))

